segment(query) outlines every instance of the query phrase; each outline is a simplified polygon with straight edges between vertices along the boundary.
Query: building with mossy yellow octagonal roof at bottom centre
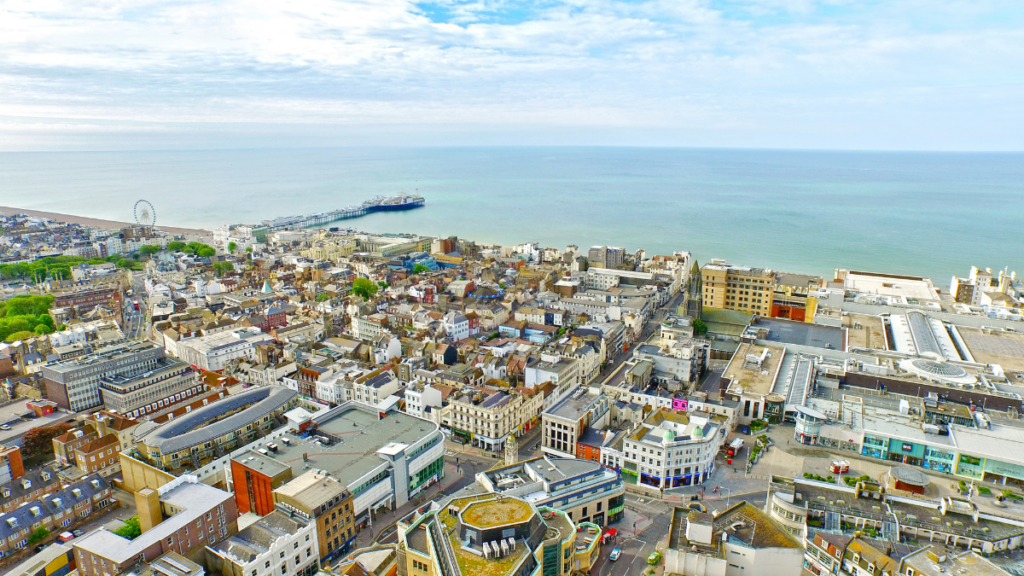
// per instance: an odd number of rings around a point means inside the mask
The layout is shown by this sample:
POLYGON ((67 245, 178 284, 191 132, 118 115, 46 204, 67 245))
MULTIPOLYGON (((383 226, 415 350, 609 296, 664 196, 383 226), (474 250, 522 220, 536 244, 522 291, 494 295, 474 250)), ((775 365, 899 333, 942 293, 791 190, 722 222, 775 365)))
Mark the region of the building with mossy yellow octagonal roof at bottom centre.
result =
POLYGON ((431 502, 398 521, 398 558, 410 575, 569 576, 600 553, 601 529, 514 496, 431 502))

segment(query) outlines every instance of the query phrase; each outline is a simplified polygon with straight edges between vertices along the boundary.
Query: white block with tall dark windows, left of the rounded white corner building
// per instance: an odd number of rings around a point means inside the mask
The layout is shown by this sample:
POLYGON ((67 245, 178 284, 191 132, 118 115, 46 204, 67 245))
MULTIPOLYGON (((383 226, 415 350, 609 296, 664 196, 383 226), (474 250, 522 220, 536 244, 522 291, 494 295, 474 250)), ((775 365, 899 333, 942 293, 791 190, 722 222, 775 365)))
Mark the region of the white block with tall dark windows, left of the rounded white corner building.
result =
POLYGON ((606 395, 587 387, 578 388, 541 416, 544 425, 542 450, 555 456, 577 457, 584 429, 608 425, 610 407, 611 399, 606 395))

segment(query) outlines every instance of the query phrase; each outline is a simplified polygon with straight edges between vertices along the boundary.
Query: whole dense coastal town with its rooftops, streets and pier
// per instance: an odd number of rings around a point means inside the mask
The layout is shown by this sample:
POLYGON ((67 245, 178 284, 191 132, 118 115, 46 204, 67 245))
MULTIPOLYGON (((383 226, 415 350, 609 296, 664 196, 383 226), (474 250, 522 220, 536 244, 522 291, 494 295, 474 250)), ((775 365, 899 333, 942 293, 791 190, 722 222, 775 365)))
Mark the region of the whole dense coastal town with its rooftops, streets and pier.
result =
POLYGON ((1004 263, 324 228, 401 198, 0 215, 0 573, 1024 575, 1004 263))

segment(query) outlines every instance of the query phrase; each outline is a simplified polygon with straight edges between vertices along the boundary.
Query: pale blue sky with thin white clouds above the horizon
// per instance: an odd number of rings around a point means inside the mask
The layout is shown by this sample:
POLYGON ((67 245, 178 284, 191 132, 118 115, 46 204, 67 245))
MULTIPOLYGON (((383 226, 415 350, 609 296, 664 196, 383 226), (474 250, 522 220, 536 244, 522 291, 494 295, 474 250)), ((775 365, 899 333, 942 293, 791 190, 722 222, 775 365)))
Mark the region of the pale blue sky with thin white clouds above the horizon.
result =
POLYGON ((0 0, 0 150, 1024 150, 1024 4, 0 0))

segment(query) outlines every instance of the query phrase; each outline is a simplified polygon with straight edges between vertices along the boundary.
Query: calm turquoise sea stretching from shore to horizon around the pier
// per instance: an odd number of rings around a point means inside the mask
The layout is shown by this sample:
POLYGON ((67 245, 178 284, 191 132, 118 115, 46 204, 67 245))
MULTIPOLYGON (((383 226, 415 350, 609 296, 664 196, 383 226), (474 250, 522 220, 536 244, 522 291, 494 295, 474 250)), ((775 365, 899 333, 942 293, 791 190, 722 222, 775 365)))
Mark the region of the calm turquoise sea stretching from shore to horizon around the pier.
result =
POLYGON ((1024 154, 670 148, 0 153, 0 205, 204 228, 419 193, 332 225, 484 244, 608 244, 703 263, 932 278, 1024 273, 1024 154))

